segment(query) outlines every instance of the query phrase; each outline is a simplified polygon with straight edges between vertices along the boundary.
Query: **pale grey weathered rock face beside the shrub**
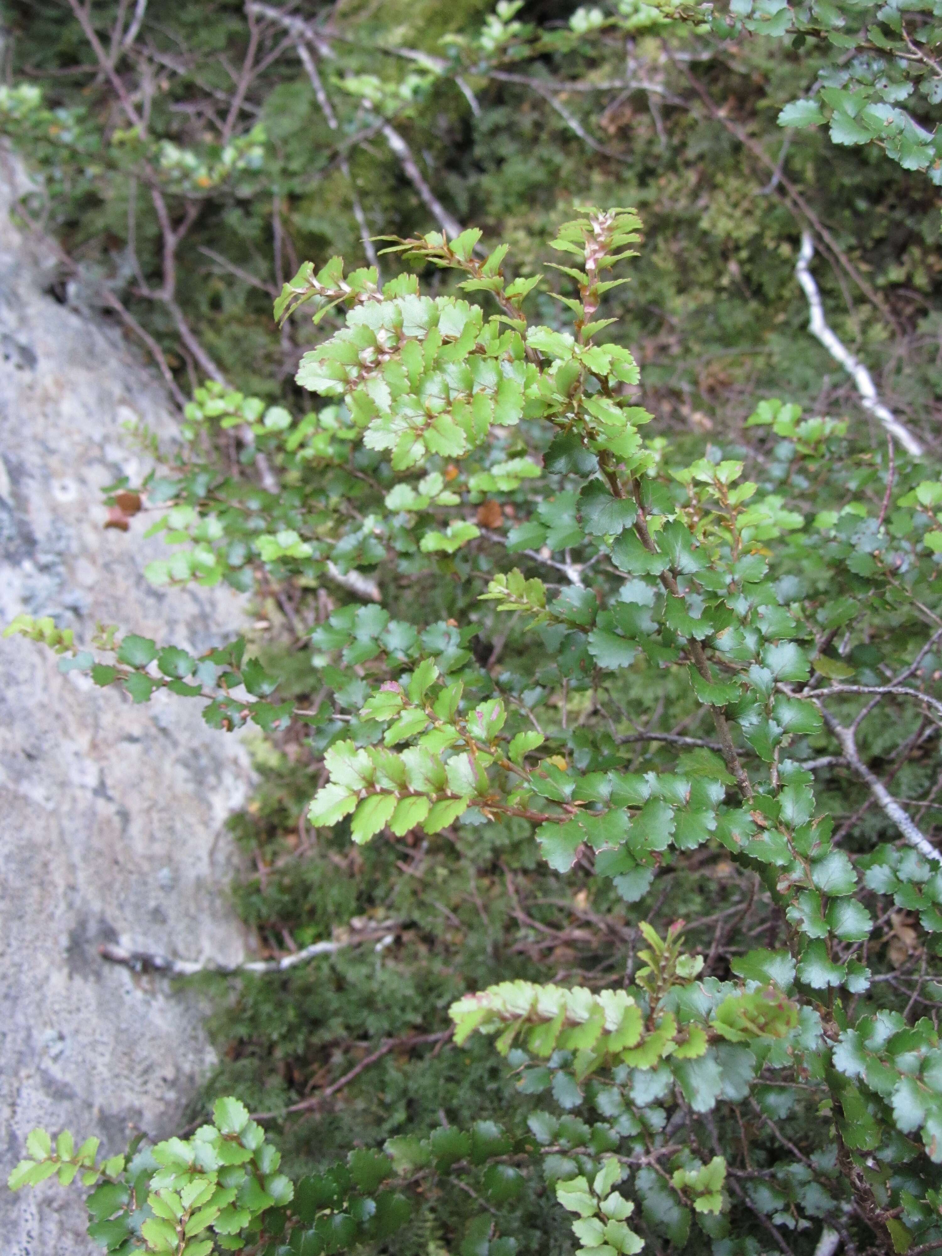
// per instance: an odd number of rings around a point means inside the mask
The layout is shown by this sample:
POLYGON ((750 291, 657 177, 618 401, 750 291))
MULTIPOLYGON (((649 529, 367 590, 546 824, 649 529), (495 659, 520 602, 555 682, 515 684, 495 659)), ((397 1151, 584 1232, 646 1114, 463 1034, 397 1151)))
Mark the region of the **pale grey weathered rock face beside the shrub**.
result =
MULTIPOLYGON (((88 643, 97 620, 206 649, 237 634, 239 599, 162 593, 139 520, 104 531, 100 487, 147 461, 123 428, 172 438, 166 399, 111 328, 43 290, 51 274, 11 226, 0 154, 0 620, 51 614, 88 643)), ((46 651, 0 641, 0 1172, 36 1124, 168 1133, 211 1063, 190 992, 106 963, 98 946, 236 962, 222 831, 249 764, 200 703, 132 706, 46 651)), ((80 1191, 0 1184, 4 1256, 90 1256, 80 1191)))

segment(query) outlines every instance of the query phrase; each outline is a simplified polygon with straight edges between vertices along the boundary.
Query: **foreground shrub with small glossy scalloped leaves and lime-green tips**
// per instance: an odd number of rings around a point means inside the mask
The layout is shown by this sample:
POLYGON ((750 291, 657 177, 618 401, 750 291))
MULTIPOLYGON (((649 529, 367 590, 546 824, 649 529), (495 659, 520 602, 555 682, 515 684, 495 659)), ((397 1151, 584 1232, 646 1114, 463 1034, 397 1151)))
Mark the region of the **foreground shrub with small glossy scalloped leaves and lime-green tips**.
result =
POLYGON ((332 329, 298 369, 317 408, 208 383, 180 463, 111 486, 119 511, 166 506, 156 583, 255 571, 350 595, 299 627, 303 682, 244 641, 197 658, 117 629, 97 653, 50 620, 8 632, 134 702, 170 690, 221 730, 305 727, 323 764, 309 823, 355 845, 460 850, 480 831, 499 859, 512 834, 614 919, 654 916, 685 872, 737 869, 747 894, 698 922, 706 955, 683 921, 639 919, 623 981, 509 980, 453 1002, 455 1044, 494 1036, 516 1080, 502 1125, 392 1137, 294 1184, 235 1099, 188 1140, 100 1166, 94 1140, 34 1132, 10 1186, 79 1177, 109 1251, 382 1245, 442 1178, 487 1210, 467 1256, 514 1251, 501 1218, 534 1183, 585 1256, 788 1251, 782 1230, 942 1245, 941 858, 870 765, 938 731, 942 484, 777 401, 749 420, 751 450, 686 461, 648 435, 604 315, 638 227, 623 208, 564 224, 555 290, 511 280, 507 247, 476 230, 389 241, 456 280, 436 295, 408 271, 381 286, 305 264, 275 313, 310 304, 332 329), (553 325, 529 314, 538 291, 553 325), (268 489, 229 474, 219 430, 241 432, 268 489), (896 740, 870 752, 889 708, 896 740), (835 831, 815 771, 858 781, 887 840, 835 831), (908 922, 902 958, 887 922, 908 922))

